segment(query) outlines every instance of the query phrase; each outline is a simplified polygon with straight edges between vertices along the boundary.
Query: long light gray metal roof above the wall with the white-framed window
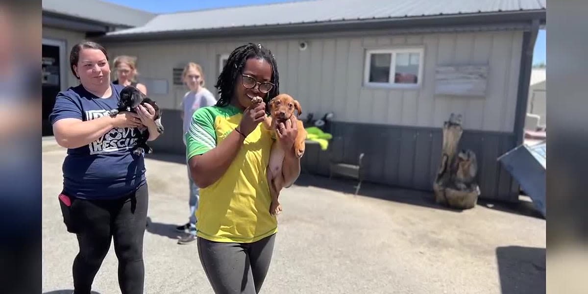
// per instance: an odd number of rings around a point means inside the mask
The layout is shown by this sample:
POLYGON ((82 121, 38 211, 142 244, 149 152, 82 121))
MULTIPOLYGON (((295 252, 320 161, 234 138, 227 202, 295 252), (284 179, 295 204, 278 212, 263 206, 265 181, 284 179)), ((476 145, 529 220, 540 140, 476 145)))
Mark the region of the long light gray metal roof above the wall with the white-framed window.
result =
POLYGON ((314 0, 161 14, 108 35, 545 9, 546 0, 314 0))

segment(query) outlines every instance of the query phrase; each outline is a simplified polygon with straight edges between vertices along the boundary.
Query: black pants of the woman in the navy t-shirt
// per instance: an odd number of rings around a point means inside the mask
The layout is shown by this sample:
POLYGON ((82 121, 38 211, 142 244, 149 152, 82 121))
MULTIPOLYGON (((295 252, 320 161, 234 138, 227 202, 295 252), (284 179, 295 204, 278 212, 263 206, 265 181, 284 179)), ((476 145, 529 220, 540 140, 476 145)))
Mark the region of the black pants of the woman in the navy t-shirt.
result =
POLYGON ((148 199, 145 184, 122 199, 75 199, 72 202, 71 221, 75 223, 79 243, 73 268, 75 294, 90 294, 92 282, 110 249, 112 238, 122 294, 143 293, 143 235, 148 199))

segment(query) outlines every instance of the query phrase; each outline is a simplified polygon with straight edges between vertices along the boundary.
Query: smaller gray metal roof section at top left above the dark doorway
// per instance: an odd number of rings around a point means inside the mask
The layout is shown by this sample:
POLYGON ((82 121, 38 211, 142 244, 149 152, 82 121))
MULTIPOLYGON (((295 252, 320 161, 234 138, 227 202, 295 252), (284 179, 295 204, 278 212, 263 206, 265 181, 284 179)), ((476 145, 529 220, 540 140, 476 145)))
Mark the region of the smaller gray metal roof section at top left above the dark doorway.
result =
POLYGON ((155 16, 100 0, 43 0, 43 11, 123 26, 141 26, 155 16))

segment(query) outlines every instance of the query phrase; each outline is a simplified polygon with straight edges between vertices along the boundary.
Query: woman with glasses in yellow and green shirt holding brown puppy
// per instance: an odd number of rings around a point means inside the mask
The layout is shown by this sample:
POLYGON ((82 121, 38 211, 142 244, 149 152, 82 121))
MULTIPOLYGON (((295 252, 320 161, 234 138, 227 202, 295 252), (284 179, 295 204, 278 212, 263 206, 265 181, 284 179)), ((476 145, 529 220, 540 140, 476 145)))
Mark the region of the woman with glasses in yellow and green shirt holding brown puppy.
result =
MULTIPOLYGON (((260 124, 266 102, 279 93, 275 58, 262 45, 239 46, 215 87, 218 103, 198 109, 185 133, 186 159, 201 189, 198 255, 215 293, 259 293, 278 232, 266 181, 274 139, 260 124), (264 102, 252 105, 255 96, 264 102)), ((293 148, 296 125, 280 124, 276 133, 285 150, 293 148)), ((282 176, 290 186, 300 159, 286 153, 282 176)))

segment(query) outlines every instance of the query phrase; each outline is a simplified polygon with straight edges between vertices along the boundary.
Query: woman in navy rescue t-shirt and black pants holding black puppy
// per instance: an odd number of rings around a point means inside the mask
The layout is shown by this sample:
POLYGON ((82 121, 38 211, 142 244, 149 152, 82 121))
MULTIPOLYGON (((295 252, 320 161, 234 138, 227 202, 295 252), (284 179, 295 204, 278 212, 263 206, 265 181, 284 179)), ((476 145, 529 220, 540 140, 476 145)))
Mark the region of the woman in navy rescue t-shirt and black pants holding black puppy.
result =
POLYGON ((59 196, 64 222, 76 233, 75 293, 89 293, 114 239, 123 294, 143 293, 143 234, 148 189, 143 155, 133 154, 139 127, 149 141, 159 135, 155 110, 107 115, 116 108, 122 85, 113 85, 106 50, 94 42, 72 48, 72 73, 80 85, 59 92, 49 116, 56 141, 68 148, 63 164, 64 188, 59 196))

